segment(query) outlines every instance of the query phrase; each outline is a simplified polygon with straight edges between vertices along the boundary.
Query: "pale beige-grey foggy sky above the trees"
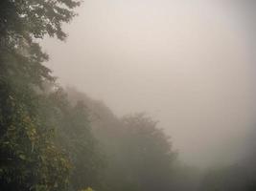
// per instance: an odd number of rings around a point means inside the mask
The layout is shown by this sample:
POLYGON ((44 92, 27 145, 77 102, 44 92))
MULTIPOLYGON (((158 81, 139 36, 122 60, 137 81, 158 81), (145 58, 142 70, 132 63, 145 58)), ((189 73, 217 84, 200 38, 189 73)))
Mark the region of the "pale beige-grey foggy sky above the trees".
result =
POLYGON ((117 116, 159 119, 185 162, 235 161, 256 125, 255 5, 84 0, 67 42, 43 42, 47 66, 117 116))

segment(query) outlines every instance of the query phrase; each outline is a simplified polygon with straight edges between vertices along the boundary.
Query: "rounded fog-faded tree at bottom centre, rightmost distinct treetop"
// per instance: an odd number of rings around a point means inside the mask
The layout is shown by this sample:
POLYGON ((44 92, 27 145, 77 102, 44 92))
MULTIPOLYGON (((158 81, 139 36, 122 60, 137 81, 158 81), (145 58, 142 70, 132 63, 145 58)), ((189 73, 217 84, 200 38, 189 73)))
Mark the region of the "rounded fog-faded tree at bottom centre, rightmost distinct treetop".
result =
POLYGON ((138 114, 122 119, 122 138, 110 156, 109 190, 170 190, 176 158, 172 144, 157 122, 138 114))

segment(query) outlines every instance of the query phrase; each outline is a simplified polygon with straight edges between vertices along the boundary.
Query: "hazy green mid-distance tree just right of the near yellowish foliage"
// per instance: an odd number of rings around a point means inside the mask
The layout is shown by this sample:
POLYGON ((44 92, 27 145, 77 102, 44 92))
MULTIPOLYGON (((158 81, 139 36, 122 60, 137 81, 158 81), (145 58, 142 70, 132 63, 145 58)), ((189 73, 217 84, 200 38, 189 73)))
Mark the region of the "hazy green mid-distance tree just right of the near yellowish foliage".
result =
POLYGON ((49 99, 52 106, 49 118, 58 127, 58 145, 65 150, 72 163, 71 187, 74 190, 88 186, 101 188, 101 171, 105 161, 92 134, 86 106, 82 101, 72 106, 61 89, 50 94, 49 99))

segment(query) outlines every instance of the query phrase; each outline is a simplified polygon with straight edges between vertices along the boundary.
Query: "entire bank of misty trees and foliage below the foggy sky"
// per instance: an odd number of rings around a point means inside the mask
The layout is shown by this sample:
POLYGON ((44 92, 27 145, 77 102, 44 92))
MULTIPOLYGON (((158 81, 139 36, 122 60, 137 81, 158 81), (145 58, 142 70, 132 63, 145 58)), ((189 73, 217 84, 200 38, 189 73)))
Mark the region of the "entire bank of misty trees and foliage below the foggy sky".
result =
POLYGON ((188 165, 157 119, 117 117, 58 84, 40 40, 68 40, 62 24, 81 3, 0 1, 0 190, 255 191, 253 151, 230 165, 188 165))

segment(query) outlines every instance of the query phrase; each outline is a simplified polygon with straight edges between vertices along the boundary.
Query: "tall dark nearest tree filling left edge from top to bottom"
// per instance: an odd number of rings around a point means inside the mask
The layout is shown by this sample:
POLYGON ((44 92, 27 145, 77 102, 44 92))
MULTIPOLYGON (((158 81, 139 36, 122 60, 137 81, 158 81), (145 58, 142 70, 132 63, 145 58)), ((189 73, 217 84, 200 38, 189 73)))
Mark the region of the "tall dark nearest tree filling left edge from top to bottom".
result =
MULTIPOLYGON (((54 81, 43 66, 36 38, 64 40, 63 22, 75 15, 75 0, 2 0, 0 2, 0 189, 63 190, 69 161, 45 121, 42 84, 54 81)), ((47 107, 44 105, 44 107, 47 107)))

